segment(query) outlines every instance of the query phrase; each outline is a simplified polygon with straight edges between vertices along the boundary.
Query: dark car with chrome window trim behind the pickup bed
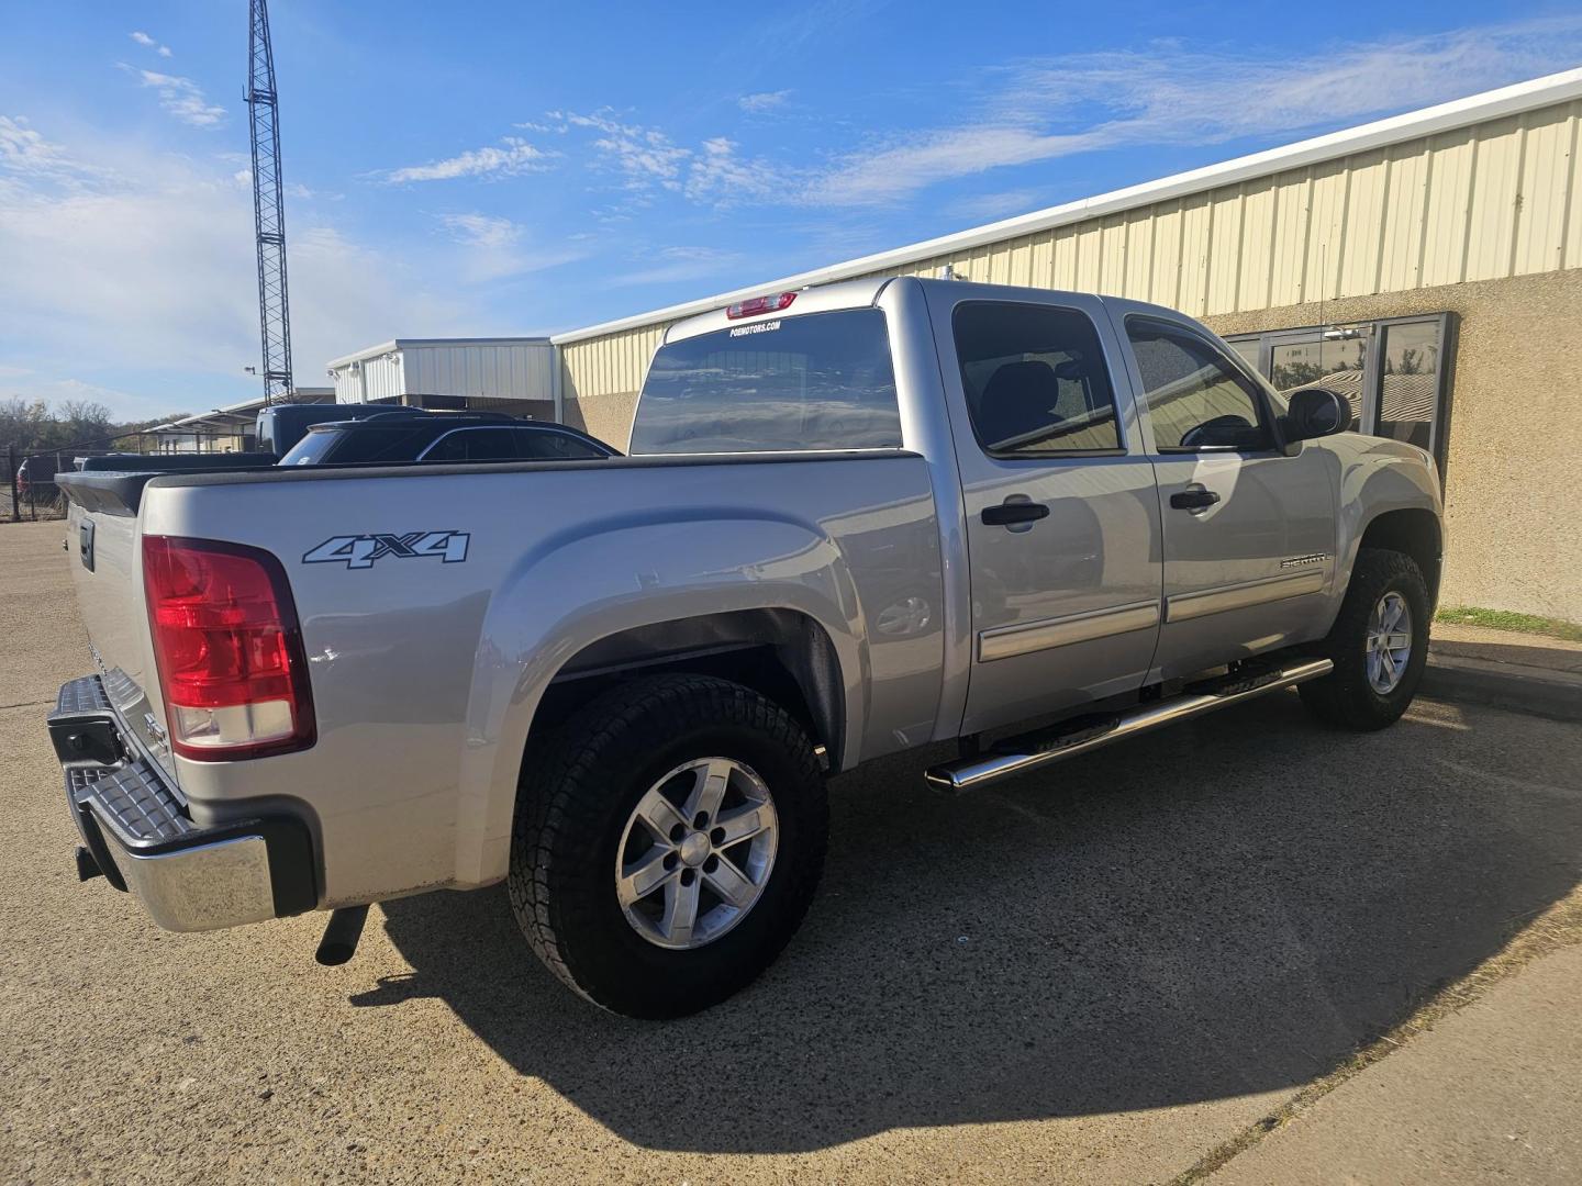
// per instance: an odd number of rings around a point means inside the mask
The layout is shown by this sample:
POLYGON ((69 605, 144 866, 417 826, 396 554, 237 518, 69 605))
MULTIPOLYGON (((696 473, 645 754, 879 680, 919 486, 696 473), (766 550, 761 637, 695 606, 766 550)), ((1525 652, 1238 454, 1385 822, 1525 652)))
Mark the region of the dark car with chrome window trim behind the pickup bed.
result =
POLYGON ((615 455, 604 441, 563 424, 503 413, 410 410, 313 424, 280 465, 585 462, 615 455))

